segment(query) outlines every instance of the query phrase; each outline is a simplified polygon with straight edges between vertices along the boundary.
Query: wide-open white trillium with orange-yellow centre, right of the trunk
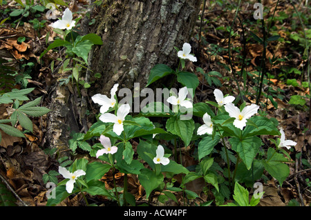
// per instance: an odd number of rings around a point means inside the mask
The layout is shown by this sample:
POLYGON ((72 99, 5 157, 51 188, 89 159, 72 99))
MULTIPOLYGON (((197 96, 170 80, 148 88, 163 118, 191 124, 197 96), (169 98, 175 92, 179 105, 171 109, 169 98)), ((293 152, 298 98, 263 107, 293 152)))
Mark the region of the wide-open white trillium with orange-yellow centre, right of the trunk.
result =
POLYGON ((233 103, 227 103, 225 105, 225 110, 229 113, 229 116, 236 118, 234 120, 234 126, 241 130, 246 126, 247 119, 257 113, 258 108, 259 106, 252 104, 250 106, 245 106, 241 112, 233 103))

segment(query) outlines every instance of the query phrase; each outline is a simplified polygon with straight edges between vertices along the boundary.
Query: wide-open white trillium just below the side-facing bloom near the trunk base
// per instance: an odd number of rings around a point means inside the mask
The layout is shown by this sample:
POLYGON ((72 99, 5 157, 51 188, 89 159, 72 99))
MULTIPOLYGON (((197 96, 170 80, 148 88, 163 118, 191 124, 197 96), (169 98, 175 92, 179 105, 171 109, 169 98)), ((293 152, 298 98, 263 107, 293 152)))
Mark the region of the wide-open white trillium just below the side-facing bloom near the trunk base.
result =
POLYGON ((104 113, 100 116, 100 121, 115 123, 113 125, 113 132, 115 132, 115 134, 117 135, 120 135, 124 130, 123 121, 125 120, 126 115, 129 114, 130 110, 131 107, 129 106, 129 104, 124 104, 117 109, 117 115, 111 113, 104 113))

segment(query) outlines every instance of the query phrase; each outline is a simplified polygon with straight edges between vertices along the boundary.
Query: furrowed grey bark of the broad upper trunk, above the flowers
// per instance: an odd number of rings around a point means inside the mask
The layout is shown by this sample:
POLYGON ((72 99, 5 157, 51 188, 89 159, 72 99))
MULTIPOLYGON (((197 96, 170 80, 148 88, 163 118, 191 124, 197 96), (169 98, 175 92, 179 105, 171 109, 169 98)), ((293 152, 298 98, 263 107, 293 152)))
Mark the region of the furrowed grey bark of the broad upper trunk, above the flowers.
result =
POLYGON ((189 41, 199 9, 200 0, 125 0, 102 8, 96 33, 104 44, 95 49, 91 67, 103 77, 95 93, 106 94, 114 83, 133 89, 138 82, 142 88, 153 66, 175 66, 174 46, 189 41))

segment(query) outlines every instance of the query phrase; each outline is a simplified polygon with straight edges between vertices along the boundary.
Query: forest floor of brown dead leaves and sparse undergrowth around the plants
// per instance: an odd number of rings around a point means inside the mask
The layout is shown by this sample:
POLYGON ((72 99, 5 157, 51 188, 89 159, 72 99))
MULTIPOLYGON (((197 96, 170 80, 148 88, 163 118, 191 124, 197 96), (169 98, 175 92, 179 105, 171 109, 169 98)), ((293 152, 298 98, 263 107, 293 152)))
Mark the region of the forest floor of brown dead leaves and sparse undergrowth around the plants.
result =
MULTIPOLYGON (((187 68, 196 72, 200 79, 196 98, 199 101, 213 100, 214 88, 220 88, 224 93, 235 97, 238 97, 241 90, 247 103, 256 103, 258 69, 263 54, 263 45, 256 40, 256 37, 263 37, 261 20, 253 18, 255 9, 252 3, 242 3, 238 17, 235 17, 237 3, 222 2, 215 1, 212 5, 207 2, 203 17, 203 6, 201 7, 194 34, 189 42, 198 58, 196 63, 187 63, 187 68), (198 68, 202 68, 204 74, 198 68), (240 74, 241 72, 243 74, 240 74)), ((288 151, 293 161, 289 165, 289 177, 280 187, 275 179, 267 175, 263 186, 265 197, 261 199, 259 206, 287 206, 292 199, 304 206, 310 206, 311 202, 310 87, 306 74, 310 54, 308 51, 304 54, 305 42, 309 43, 310 47, 311 32, 308 29, 310 6, 305 6, 304 3, 305 1, 295 3, 294 6, 301 15, 308 39, 304 39, 301 21, 296 16, 295 8, 288 1, 279 2, 272 21, 270 19, 274 14, 276 1, 267 0, 264 3, 265 25, 270 26, 267 38, 275 35, 279 35, 280 38, 267 43, 265 56, 271 60, 266 62, 269 78, 265 77, 263 81, 263 93, 258 103, 265 109, 267 117, 279 121, 285 130, 285 137, 296 141, 297 144, 288 151)), ((71 5, 70 10, 79 16, 84 14, 87 7, 87 1, 79 1, 71 5)), ((19 8, 15 1, 3 1, 0 19, 6 19, 19 8)), ((23 19, 14 17, 11 20, 14 26, 0 30, 1 58, 10 60, 10 66, 18 72, 15 88, 35 88, 30 94, 31 99, 45 97, 48 88, 55 83, 53 75, 50 74, 53 68, 50 66, 51 60, 44 57, 40 62, 39 59, 47 42, 53 41, 56 36, 48 26, 50 21, 44 20, 45 13, 37 10, 23 19)), ((93 20, 91 25, 92 23, 93 20)), ((53 54, 55 59, 57 56, 58 54, 53 54)), ((41 105, 48 106, 48 99, 44 99, 41 105)), ((6 119, 11 109, 12 106, 1 104, 0 119, 6 119)), ((24 203, 28 206, 45 206, 48 188, 42 176, 50 170, 57 170, 59 165, 59 161, 46 154, 42 148, 47 130, 46 119, 46 116, 32 118, 33 132, 25 134, 26 138, 10 137, 1 131, 0 174, 4 178, 3 181, 10 185, 15 197, 20 199, 17 199, 19 206, 23 206, 24 203)), ((264 143, 269 141, 269 137, 262 138, 264 143)), ((189 155, 184 156, 184 163, 187 163, 185 166, 196 164, 189 155)), ((108 188, 112 187, 111 172, 102 179, 106 181, 108 188)), ((122 185, 122 174, 115 179, 122 185)), ((144 201, 144 189, 137 177, 129 176, 128 181, 131 193, 138 201, 144 201)), ((0 183, 0 190, 2 187, 4 186, 0 183)), ((203 187, 204 183, 199 180, 187 185, 188 190, 200 195, 200 200, 207 201, 210 197, 202 191, 203 187)), ((151 201, 158 202, 157 194, 153 196, 155 199, 151 201)), ((91 199, 105 201, 105 198, 91 199)), ((81 203, 82 196, 78 194, 66 199, 61 205, 81 206, 81 203)), ((176 203, 166 203, 165 206, 176 206, 176 203)))

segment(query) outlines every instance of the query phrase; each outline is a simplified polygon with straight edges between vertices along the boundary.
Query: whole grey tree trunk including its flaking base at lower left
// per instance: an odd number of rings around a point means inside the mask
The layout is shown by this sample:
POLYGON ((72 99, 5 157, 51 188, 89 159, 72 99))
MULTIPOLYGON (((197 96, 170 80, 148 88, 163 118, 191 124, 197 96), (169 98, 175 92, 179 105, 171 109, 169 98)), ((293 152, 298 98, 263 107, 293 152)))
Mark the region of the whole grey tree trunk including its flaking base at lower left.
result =
MULTIPOLYGON (((101 7, 91 32, 100 35, 104 43, 90 52, 88 63, 93 73, 86 72, 86 81, 91 76, 89 80, 95 81, 95 86, 88 88, 88 94, 82 91, 82 99, 70 86, 52 87, 49 108, 53 111, 48 114, 45 139, 49 148, 66 152, 70 132, 88 130, 85 112, 93 94, 107 94, 115 83, 132 90, 133 83, 138 82, 143 88, 156 64, 176 66, 174 46, 181 49, 189 41, 200 0, 106 0, 101 7), (97 72, 102 77, 92 78, 97 72)), ((84 34, 86 23, 82 19, 84 34)))

